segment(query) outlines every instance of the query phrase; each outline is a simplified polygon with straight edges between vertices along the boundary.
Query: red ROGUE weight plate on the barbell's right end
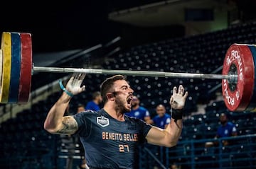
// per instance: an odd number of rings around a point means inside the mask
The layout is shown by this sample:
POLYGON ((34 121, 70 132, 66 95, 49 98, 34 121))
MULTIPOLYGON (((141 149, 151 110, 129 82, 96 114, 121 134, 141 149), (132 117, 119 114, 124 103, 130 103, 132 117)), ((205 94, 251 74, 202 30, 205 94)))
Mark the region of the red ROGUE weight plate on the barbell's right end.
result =
POLYGON ((238 81, 235 89, 231 90, 229 81, 222 80, 223 98, 230 111, 244 111, 252 98, 254 88, 254 62, 250 48, 245 44, 233 44, 225 54, 223 75, 230 72, 230 66, 237 68, 238 81))

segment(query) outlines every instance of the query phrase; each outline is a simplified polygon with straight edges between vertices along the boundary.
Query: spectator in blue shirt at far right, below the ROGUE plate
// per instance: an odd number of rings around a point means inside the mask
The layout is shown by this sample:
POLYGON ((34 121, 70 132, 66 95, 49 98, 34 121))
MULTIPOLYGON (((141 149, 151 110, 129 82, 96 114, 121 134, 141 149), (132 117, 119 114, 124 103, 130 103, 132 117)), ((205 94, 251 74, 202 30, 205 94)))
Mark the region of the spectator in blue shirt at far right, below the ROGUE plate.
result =
MULTIPOLYGON (((215 138, 237 136, 238 132, 233 122, 228 121, 227 115, 225 113, 220 114, 220 127, 218 127, 217 134, 215 138)), ((223 146, 228 146, 230 143, 228 140, 223 140, 223 146)))

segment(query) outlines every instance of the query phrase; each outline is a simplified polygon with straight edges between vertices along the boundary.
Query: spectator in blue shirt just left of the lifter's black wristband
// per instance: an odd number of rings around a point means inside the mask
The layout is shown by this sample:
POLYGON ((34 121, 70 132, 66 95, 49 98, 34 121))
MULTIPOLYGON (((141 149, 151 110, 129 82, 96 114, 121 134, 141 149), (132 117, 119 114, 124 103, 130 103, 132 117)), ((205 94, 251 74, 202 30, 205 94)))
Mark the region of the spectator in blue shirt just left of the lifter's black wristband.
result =
POLYGON ((161 129, 165 129, 171 122, 171 115, 166 113, 166 107, 164 105, 156 106, 156 116, 150 120, 150 124, 154 124, 161 129))

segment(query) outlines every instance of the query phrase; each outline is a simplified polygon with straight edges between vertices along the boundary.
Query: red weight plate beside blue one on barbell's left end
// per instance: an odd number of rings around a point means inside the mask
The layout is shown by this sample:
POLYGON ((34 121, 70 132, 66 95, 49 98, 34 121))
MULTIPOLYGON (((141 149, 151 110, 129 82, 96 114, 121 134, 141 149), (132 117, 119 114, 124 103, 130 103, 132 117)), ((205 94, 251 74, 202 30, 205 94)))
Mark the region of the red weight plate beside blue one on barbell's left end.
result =
POLYGON ((31 92, 32 39, 30 33, 21 36, 21 76, 18 88, 18 103, 27 103, 31 92))

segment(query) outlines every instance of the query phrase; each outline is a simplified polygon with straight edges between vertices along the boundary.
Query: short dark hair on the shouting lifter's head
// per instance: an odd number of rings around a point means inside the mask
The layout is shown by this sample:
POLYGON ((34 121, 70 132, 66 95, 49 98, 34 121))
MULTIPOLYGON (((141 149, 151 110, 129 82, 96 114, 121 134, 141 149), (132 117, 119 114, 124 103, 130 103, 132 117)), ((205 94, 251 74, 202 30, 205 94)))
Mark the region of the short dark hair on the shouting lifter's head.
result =
POLYGON ((123 75, 114 75, 109 78, 106 78, 105 81, 102 82, 100 85, 100 93, 102 95, 102 101, 103 103, 107 102, 107 93, 112 92, 112 87, 115 81, 124 80, 126 81, 126 78, 123 75))

